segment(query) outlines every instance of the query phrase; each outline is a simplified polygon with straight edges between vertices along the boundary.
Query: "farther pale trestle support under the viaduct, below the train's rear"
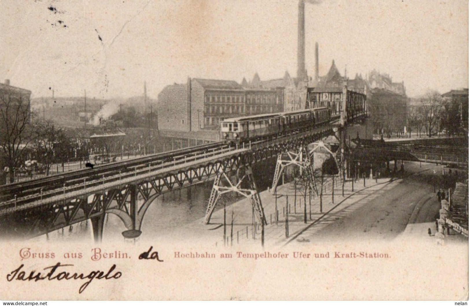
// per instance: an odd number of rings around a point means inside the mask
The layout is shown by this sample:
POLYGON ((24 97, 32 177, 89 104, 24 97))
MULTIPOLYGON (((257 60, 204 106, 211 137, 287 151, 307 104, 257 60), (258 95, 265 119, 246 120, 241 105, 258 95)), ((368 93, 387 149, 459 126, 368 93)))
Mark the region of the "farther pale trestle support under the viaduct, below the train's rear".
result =
POLYGON ((313 176, 313 151, 315 149, 316 147, 312 150, 312 155, 310 155, 310 152, 308 152, 307 146, 299 147, 298 152, 289 151, 287 153, 282 153, 278 155, 276 169, 274 171, 273 185, 271 187, 272 194, 276 192, 277 184, 279 183, 279 179, 283 175, 284 169, 287 166, 296 165, 300 168, 301 175, 303 171, 305 171, 309 181, 310 190, 315 191, 315 194, 318 196, 315 184, 315 177, 313 176))

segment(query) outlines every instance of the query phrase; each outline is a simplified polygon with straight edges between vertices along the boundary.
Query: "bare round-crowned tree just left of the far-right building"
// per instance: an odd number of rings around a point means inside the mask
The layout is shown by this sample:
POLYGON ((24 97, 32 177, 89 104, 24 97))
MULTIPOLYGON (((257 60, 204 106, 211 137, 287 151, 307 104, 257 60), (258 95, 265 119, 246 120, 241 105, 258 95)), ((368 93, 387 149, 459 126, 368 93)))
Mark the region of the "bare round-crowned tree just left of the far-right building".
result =
POLYGON ((426 134, 431 137, 432 131, 436 128, 440 121, 442 112, 442 96, 439 92, 428 91, 420 98, 420 113, 424 121, 426 134))

